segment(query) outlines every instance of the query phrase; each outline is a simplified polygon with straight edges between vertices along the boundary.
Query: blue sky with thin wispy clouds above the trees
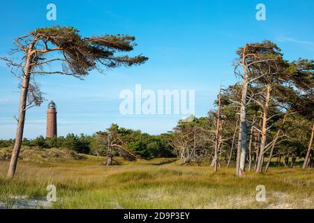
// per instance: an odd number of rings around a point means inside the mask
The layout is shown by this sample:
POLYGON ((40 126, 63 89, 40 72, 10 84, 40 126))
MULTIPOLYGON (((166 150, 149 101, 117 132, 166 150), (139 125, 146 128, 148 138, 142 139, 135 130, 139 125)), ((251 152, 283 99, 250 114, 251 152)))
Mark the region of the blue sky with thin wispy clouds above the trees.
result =
MULTIPOLYGON (((181 116, 122 116, 124 89, 195 90, 195 115, 213 108, 220 84, 237 80, 232 60, 245 43, 277 43, 286 59, 314 57, 314 1, 1 1, 0 56, 12 40, 41 26, 75 26, 82 36, 128 33, 136 37, 131 54, 149 56, 143 66, 96 71, 84 81, 40 77, 47 101, 27 111, 24 136, 45 135, 49 100, 58 107, 58 132, 92 134, 118 123, 151 134, 171 130, 181 116), (46 20, 46 6, 57 6, 57 21, 46 20), (255 6, 264 3, 267 20, 257 21, 255 6)), ((17 79, 0 62, 0 139, 15 137, 19 92, 17 79)))

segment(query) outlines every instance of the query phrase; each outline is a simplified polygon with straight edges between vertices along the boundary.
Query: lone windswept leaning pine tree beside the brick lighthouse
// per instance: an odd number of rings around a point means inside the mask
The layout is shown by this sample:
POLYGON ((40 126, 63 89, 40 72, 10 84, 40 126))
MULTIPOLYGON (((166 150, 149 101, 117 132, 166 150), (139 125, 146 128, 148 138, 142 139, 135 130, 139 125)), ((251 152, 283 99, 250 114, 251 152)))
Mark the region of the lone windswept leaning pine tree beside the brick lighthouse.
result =
POLYGON ((133 50, 134 40, 133 36, 119 34, 83 37, 71 26, 35 29, 15 39, 15 48, 10 54, 15 54, 19 59, 2 58, 13 75, 20 79, 21 89, 17 132, 8 177, 15 174, 26 111, 43 102, 43 95, 34 77, 59 74, 84 79, 94 69, 103 72, 106 68, 142 64, 147 61, 147 57, 122 54, 133 50))

